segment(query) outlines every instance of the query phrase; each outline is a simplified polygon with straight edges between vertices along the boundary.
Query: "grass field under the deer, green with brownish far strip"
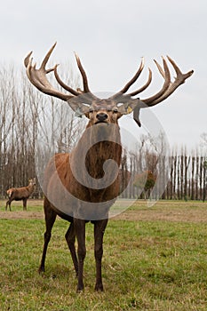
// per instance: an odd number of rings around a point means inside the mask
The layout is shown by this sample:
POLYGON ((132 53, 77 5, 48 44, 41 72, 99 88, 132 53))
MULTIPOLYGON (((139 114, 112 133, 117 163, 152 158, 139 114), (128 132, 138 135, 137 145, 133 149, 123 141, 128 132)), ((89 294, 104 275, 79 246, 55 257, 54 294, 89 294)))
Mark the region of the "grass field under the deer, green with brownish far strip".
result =
POLYGON ((83 293, 57 219, 44 275, 38 275, 44 218, 41 201, 0 202, 0 310, 207 310, 207 204, 134 203, 108 222, 103 293, 94 292, 92 224, 87 224, 83 293))

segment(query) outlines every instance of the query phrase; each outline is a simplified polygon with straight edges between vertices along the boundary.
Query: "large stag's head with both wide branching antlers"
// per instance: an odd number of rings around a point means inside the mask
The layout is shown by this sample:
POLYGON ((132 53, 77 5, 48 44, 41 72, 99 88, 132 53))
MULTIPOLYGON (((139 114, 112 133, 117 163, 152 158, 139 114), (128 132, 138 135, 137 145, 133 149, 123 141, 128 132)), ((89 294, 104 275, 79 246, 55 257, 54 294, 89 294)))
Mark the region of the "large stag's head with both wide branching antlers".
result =
POLYGON ((139 100, 139 98, 136 96, 140 92, 146 90, 148 85, 152 81, 152 72, 150 68, 148 69, 147 83, 134 92, 127 92, 130 89, 131 85, 137 81, 144 68, 144 59, 142 58, 138 71, 131 78, 131 80, 127 84, 125 84, 123 89, 115 93, 115 95, 103 100, 96 97, 90 91, 87 76, 77 54, 75 54, 76 62, 83 79, 83 90, 74 90, 73 88, 65 84, 60 79, 60 76, 58 74, 58 65, 55 65, 53 68, 49 69, 45 68, 55 45, 56 44, 54 44, 50 51, 46 54, 39 69, 36 69, 36 64, 32 65, 32 52, 28 54, 28 56, 24 60, 25 66, 27 68, 28 79, 32 84, 36 86, 39 91, 59 98, 60 100, 67 101, 68 105, 76 112, 76 116, 87 116, 90 119, 88 126, 100 123, 117 124, 117 120, 121 116, 130 114, 132 111, 135 122, 140 126, 140 108, 152 107, 165 100, 171 95, 172 92, 174 92, 179 87, 180 84, 184 84, 186 79, 194 72, 193 70, 190 70, 186 74, 183 74, 180 71, 179 67, 176 65, 176 63, 171 60, 169 56, 167 56, 167 59, 170 61, 172 67, 176 72, 175 80, 171 82, 171 74, 166 60, 163 59, 163 68, 155 60, 156 67, 158 68, 160 74, 163 76, 163 87, 159 92, 156 92, 155 95, 147 99, 139 100), (54 76, 58 84, 60 84, 60 86, 68 93, 58 91, 48 81, 46 75, 52 71, 54 72, 54 76))

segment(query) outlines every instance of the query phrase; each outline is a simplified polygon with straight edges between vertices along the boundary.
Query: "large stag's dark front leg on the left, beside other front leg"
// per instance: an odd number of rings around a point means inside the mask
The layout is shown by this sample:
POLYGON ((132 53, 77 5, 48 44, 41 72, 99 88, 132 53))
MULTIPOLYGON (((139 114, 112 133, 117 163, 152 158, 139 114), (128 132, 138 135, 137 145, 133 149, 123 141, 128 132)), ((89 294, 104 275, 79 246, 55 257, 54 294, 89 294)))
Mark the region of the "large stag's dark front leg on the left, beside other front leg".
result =
POLYGON ((77 274, 77 292, 84 290, 84 259, 86 255, 85 248, 85 221, 83 219, 74 219, 74 227, 77 238, 77 257, 78 257, 78 274, 77 274))

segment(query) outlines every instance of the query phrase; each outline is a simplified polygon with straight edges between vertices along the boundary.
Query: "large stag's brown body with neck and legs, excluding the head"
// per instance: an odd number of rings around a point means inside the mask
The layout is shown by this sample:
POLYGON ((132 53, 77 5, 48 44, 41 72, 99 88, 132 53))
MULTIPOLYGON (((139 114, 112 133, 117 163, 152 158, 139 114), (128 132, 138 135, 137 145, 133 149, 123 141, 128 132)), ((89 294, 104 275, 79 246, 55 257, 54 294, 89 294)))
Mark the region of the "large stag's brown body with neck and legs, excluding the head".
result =
MULTIPOLYGON (((88 129, 89 128, 91 128, 90 124, 88 125, 88 129)), ((78 275, 77 291, 81 291, 84 288, 83 266, 86 253, 84 241, 85 222, 90 220, 94 225, 94 251, 97 267, 97 281, 95 289, 97 291, 103 290, 100 272, 103 252, 102 240, 107 226, 108 210, 112 203, 115 202, 115 198, 119 193, 118 167, 121 163, 122 156, 120 140, 118 140, 119 144, 111 141, 98 142, 90 148, 86 156, 86 169, 89 171, 90 176, 94 179, 103 178, 103 164, 108 159, 114 159, 115 163, 117 163, 117 171, 111 171, 111 174, 116 176, 115 181, 108 187, 102 189, 92 189, 90 187, 86 187, 76 180, 73 175, 73 171, 78 171, 80 169, 79 159, 80 155, 83 155, 84 152, 86 145, 85 140, 91 140, 91 138, 94 139, 94 136, 99 131, 107 132, 107 139, 111 140, 111 137, 113 136, 111 130, 113 129, 109 128, 107 123, 94 125, 94 127, 92 127, 91 137, 88 137, 88 134, 91 131, 88 132, 87 130, 86 133, 84 132, 82 138, 79 140, 72 153, 58 154, 54 156, 44 174, 44 194, 46 195, 46 198, 44 199, 44 211, 47 230, 44 235, 44 254, 39 270, 44 271, 46 249, 51 238, 51 230, 54 219, 58 214, 61 218, 68 219, 68 221, 71 222, 66 239, 69 250, 71 251, 71 256, 76 269, 76 275, 78 275), (73 165, 73 170, 71 170, 71 165, 73 165), (62 187, 67 189, 68 193, 71 194, 71 197, 67 203, 65 202, 65 199, 62 198, 62 187), (57 210, 55 205, 50 203, 47 197, 50 197, 52 202, 57 202, 56 200, 58 199, 61 211, 57 210), (76 200, 76 198, 78 198, 78 200, 76 200), (96 203, 95 208, 91 206, 92 203, 96 203), (62 212, 64 209, 66 210, 65 213, 62 212), (75 235, 78 242, 78 259, 76 258, 75 251, 75 235)), ((117 135, 120 138, 119 128, 115 127, 114 130, 114 135, 117 140, 117 135)), ((87 180, 85 180, 85 182, 87 183, 87 180)))

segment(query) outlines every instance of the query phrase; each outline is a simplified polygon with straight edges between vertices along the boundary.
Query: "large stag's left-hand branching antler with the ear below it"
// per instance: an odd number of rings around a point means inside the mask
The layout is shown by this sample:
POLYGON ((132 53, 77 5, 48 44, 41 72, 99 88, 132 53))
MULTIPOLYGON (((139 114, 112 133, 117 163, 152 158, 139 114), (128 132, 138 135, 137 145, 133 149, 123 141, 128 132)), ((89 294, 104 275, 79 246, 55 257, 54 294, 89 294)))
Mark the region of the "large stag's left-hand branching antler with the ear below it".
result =
POLYGON ((81 64, 81 61, 77 55, 76 55, 76 62, 77 62, 77 66, 78 66, 78 68, 81 72, 82 78, 83 78, 84 91, 81 91, 81 90, 76 91, 73 88, 71 88, 70 86, 68 86, 67 84, 64 84, 64 82, 60 79, 60 76, 58 75, 58 72, 57 72, 58 65, 55 65, 53 68, 50 68, 50 69, 45 68, 48 60, 50 59, 52 51, 55 48, 55 45, 56 45, 56 43, 53 44, 50 51, 47 52, 47 54, 44 57, 44 60, 43 60, 39 69, 36 69, 36 63, 34 65, 32 64, 32 60, 33 60, 31 58, 32 52, 30 52, 28 54, 28 56, 25 58, 24 64, 25 64, 25 67, 27 68, 27 75, 28 75, 29 81, 33 85, 35 85, 39 91, 44 92, 44 94, 52 95, 54 97, 59 98, 60 100, 68 101, 69 105, 74 110, 76 110, 77 108, 79 108, 79 109, 81 108, 81 106, 80 106, 82 104, 81 99, 83 99, 86 104, 91 105, 92 100, 95 99, 95 96, 89 90, 87 76, 84 72, 84 68, 81 64), (54 72, 54 76, 55 76, 57 82, 66 91, 68 91, 69 94, 66 94, 64 92, 60 92, 60 91, 53 88, 52 84, 48 81, 47 76, 46 76, 47 74, 49 74, 52 71, 54 72), (87 93, 87 95, 86 95, 86 93, 87 93), (79 96, 78 100, 76 100, 76 96, 79 96))

